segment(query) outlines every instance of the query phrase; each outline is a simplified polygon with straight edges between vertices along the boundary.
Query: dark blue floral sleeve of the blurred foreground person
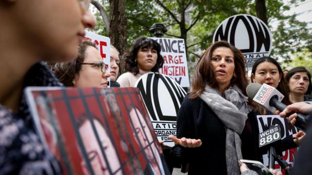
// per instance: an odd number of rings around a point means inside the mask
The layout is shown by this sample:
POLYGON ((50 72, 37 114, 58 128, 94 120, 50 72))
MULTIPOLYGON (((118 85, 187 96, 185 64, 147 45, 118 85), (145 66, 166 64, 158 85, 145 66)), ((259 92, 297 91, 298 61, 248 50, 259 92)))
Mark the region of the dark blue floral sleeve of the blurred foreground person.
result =
POLYGON ((32 129, 9 109, 0 106, 0 174, 59 173, 56 159, 47 156, 32 129))

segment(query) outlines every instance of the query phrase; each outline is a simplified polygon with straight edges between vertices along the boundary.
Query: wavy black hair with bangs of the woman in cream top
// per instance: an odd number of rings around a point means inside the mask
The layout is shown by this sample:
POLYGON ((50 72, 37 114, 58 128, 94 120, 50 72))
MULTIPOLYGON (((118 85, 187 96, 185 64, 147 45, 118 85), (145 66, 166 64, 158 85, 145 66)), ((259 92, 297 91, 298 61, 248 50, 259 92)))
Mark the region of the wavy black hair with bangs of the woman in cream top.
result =
POLYGON ((162 67, 164 63, 164 58, 160 54, 161 48, 160 45, 154 40, 146 37, 139 37, 135 40, 134 44, 130 48, 129 51, 126 51, 123 54, 123 58, 125 59, 125 71, 130 71, 133 74, 137 75, 139 72, 137 68, 137 52, 139 49, 151 48, 155 49, 157 52, 157 61, 156 65, 152 68, 152 72, 158 72, 158 70, 162 67))

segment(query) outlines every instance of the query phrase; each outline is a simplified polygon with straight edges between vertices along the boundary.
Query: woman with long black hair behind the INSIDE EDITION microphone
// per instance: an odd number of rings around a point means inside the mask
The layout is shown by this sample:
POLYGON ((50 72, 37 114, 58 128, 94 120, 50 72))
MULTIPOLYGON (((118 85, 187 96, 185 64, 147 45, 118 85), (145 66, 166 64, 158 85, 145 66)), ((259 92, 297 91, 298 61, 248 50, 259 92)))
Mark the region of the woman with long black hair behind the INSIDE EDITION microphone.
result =
MULTIPOLYGON (((252 83, 267 84, 276 88, 279 92, 284 95, 282 103, 285 105, 292 104, 289 100, 288 93, 289 88, 286 84, 286 80, 283 76, 283 70, 278 62, 272 57, 261 57, 254 62, 252 69, 252 83)), ((255 104, 254 110, 248 114, 248 120, 242 138, 242 153, 244 159, 258 160, 263 162, 264 154, 267 154, 266 148, 259 148, 259 128, 257 117, 258 115, 275 115, 274 112, 268 111, 261 105, 255 104)), ((291 134, 282 140, 281 149, 285 151, 287 149, 295 148, 303 138, 304 133, 299 131, 296 134, 291 134), (293 139, 295 138, 295 139, 293 139)))

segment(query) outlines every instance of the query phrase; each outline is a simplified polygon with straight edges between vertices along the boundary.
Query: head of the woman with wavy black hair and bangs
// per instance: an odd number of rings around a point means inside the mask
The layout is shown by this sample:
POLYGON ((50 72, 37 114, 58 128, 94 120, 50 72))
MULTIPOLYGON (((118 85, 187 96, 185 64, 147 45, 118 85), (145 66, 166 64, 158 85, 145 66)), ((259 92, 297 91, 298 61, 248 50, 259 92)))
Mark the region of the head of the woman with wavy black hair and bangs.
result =
POLYGON ((139 70, 158 72, 164 62, 160 51, 160 45, 154 39, 137 38, 130 50, 123 54, 125 70, 135 75, 139 70))

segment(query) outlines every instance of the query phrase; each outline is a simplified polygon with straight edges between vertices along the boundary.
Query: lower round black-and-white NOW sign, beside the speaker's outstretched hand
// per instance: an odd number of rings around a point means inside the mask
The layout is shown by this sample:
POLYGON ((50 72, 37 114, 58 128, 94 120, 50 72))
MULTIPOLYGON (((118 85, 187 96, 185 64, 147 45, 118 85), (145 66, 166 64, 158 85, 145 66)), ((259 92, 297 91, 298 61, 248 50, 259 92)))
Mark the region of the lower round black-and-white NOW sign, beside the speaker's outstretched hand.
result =
POLYGON ((158 140, 174 146, 168 136, 176 136, 176 116, 186 92, 175 80, 158 73, 145 73, 137 80, 136 87, 141 92, 158 140))

